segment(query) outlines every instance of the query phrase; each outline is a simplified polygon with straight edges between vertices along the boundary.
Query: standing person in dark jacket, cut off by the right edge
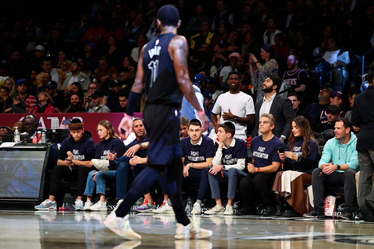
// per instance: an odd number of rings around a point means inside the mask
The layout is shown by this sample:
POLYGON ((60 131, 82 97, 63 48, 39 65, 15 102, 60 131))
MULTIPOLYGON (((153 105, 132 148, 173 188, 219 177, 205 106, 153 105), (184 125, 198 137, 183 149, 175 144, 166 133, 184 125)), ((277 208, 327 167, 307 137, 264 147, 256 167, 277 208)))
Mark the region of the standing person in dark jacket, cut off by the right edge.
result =
POLYGON ((356 150, 360 165, 357 202, 360 205, 355 220, 374 221, 374 189, 371 179, 374 170, 374 109, 370 105, 374 99, 374 63, 367 74, 368 88, 355 97, 351 121, 360 128, 356 150))

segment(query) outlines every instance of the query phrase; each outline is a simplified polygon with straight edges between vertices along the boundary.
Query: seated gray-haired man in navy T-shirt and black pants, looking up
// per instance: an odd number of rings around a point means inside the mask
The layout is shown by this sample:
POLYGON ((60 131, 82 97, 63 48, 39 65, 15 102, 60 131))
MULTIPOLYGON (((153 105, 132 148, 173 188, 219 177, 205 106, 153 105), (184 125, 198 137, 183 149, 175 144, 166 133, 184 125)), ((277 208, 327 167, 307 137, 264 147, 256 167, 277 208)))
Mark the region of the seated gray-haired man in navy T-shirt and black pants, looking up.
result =
POLYGON ((278 147, 284 149, 285 146, 282 140, 274 136, 274 127, 275 119, 272 114, 261 115, 258 131, 262 135, 252 138, 252 163, 248 163, 249 173, 240 181, 240 194, 242 194, 244 206, 238 214, 254 214, 254 203, 259 197, 265 206, 262 215, 273 216, 275 214, 276 196, 271 190, 275 175, 281 166, 278 147))

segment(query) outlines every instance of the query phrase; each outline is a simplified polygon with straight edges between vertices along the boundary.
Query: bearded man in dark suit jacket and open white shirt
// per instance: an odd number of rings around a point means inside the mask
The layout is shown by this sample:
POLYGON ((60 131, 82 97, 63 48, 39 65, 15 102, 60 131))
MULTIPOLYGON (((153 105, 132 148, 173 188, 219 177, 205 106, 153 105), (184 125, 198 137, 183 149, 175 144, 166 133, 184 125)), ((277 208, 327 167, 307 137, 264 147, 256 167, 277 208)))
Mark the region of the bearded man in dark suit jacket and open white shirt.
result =
POLYGON ((262 90, 265 97, 255 104, 255 121, 253 124, 252 137, 259 136, 258 121, 263 113, 270 113, 275 118, 274 136, 285 141, 290 133, 291 120, 295 117, 291 100, 278 93, 282 80, 276 75, 267 75, 262 90))

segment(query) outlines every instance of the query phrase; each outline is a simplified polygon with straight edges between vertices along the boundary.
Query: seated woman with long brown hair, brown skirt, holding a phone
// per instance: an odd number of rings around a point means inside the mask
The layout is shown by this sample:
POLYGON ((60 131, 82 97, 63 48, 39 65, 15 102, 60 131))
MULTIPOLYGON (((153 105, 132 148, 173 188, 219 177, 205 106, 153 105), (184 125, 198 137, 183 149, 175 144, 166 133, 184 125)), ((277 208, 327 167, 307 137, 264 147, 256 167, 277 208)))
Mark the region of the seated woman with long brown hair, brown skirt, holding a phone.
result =
POLYGON ((301 216, 311 209, 308 191, 304 188, 312 184, 312 171, 319 156, 317 141, 304 116, 292 119, 286 151, 278 153, 284 171, 277 173, 272 188, 282 205, 275 215, 301 216))

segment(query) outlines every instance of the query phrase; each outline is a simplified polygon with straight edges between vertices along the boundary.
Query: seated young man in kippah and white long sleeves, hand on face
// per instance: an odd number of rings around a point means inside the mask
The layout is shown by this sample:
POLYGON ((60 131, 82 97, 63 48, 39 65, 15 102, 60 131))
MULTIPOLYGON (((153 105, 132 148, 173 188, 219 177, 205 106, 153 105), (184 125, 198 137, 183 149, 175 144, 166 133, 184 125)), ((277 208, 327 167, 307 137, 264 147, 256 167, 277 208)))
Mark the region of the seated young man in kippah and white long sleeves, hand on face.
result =
MULTIPOLYGON (((208 174, 209 184, 212 190, 212 198, 216 205, 205 211, 205 214, 224 214, 233 215, 232 203, 236 192, 236 183, 238 178, 243 178, 246 173, 243 171, 245 163, 248 161, 247 144, 241 138, 234 138, 235 125, 230 122, 224 122, 218 125, 217 137, 215 140, 216 153, 212 160, 214 165, 208 174), (229 183, 227 198, 229 199, 224 211, 221 196, 221 183, 229 183)), ((281 140, 279 140, 281 141, 281 140)))

